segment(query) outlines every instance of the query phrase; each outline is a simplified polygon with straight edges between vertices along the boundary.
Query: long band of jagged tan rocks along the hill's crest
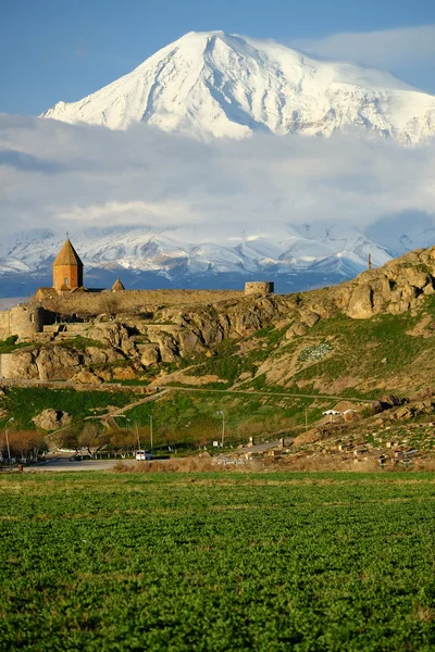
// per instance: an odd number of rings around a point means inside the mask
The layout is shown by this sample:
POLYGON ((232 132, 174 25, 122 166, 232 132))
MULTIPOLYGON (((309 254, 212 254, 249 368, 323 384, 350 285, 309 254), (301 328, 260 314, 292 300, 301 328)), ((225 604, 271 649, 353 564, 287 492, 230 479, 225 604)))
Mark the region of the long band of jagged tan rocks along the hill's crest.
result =
MULTIPOLYGON (((408 253, 333 288, 269 297, 229 293, 227 299, 213 304, 177 303, 156 305, 152 310, 144 306, 141 312, 123 314, 122 321, 104 321, 101 316, 83 325, 82 346, 78 341, 74 343, 78 331, 73 326, 71 341, 57 343, 61 336, 67 338, 66 324, 62 333, 53 331, 53 341, 3 354, 1 374, 12 379, 82 384, 130 379, 146 374, 149 367, 158 372, 162 363, 201 353, 213 355, 226 339, 245 338, 249 342, 250 336, 265 328, 282 330, 283 342, 297 346, 298 338, 310 337, 322 319, 339 313, 352 319, 368 319, 385 313, 414 311, 434 292, 435 248, 431 248, 408 253)), ((425 322, 427 337, 432 336, 431 318, 427 316, 425 322)), ((382 362, 387 364, 387 359, 382 362)), ((275 360, 274 367, 279 371, 279 365, 283 380, 289 367, 286 360, 275 360)), ((259 367, 259 373, 270 373, 265 367, 259 367)))

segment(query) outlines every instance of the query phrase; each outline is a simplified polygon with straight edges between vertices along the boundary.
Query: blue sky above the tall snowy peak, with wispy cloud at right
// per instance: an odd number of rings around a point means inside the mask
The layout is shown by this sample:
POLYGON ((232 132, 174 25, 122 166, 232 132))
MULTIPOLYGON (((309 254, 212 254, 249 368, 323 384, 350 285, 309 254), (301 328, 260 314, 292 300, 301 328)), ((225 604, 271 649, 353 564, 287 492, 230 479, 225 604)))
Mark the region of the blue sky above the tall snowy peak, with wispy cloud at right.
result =
POLYGON ((433 0, 0 0, 0 112, 80 99, 183 34, 210 29, 380 65, 435 93, 435 32, 413 32, 431 25, 433 0))

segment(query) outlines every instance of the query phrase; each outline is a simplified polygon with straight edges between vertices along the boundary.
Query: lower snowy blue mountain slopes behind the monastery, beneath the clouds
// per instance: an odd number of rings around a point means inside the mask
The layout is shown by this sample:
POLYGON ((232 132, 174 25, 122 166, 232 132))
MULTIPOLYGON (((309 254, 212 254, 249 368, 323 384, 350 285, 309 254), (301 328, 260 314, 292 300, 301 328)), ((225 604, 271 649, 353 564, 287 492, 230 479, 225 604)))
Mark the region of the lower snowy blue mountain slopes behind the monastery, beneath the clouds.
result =
MULTIPOLYGON (((269 278, 278 291, 289 291, 352 277, 366 267, 369 253, 374 265, 390 258, 363 233, 343 226, 313 231, 289 225, 281 234, 240 235, 220 243, 191 243, 183 234, 182 228, 94 228, 73 241, 90 287, 107 285, 112 276, 121 276, 127 287, 243 287, 245 280, 269 278)), ((34 278, 36 286, 50 283, 62 241, 49 230, 3 241, 0 285, 16 286, 24 278, 34 278)))

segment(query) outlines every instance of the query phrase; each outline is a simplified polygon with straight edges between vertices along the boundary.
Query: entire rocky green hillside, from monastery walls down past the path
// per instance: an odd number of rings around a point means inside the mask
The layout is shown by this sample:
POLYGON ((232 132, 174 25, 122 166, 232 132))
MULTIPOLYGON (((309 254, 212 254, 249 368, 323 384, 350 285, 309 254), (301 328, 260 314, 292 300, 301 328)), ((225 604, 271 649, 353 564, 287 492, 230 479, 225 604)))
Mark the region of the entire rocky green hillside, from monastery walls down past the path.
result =
POLYGON ((35 428, 34 417, 49 408, 83 424, 95 409, 134 403, 133 393, 104 392, 113 383, 170 389, 125 412, 124 426, 145 430, 152 414, 162 443, 219 438, 222 411, 234 443, 296 436, 345 399, 364 418, 375 418, 370 401, 383 394, 411 399, 400 418, 432 414, 432 399, 415 401, 435 385, 434 256, 435 248, 412 252, 311 292, 142 306, 99 315, 60 341, 55 333, 26 346, 9 340, 3 351, 18 384, 67 380, 84 391, 7 388, 0 425, 13 416, 17 427, 35 428))

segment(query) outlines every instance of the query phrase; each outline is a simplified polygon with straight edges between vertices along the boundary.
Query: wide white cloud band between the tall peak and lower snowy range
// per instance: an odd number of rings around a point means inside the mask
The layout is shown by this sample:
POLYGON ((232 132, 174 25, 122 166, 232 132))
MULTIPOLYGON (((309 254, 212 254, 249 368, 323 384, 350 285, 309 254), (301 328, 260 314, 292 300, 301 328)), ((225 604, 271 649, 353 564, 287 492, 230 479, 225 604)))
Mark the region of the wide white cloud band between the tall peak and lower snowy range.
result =
POLYGON ((147 125, 111 131, 3 115, 0 233, 183 226, 190 241, 228 241, 289 223, 364 227, 432 215, 434 166, 435 146, 357 134, 203 143, 147 125))

